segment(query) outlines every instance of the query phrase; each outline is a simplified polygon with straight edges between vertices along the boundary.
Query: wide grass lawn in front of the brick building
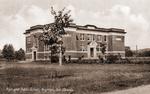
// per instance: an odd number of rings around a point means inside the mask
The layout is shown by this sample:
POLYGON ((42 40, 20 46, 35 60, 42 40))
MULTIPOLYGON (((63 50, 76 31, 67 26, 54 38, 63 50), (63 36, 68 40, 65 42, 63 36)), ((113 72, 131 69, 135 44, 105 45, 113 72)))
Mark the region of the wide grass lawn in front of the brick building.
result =
POLYGON ((0 94, 99 94, 145 84, 148 64, 0 64, 0 94))

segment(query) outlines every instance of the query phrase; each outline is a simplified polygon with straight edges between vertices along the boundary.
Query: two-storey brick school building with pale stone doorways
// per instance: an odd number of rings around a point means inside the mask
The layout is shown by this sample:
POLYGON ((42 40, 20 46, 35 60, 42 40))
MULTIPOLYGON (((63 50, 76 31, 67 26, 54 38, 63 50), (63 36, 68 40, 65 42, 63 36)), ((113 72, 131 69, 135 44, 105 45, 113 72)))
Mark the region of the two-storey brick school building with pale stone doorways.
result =
MULTIPOLYGON (((100 44, 106 44, 106 53, 125 56, 125 31, 117 28, 98 28, 94 25, 80 26, 71 24, 65 28, 67 35, 63 35, 63 46, 66 48, 65 56, 77 59, 98 59, 102 55, 100 44)), ((24 33, 26 35, 26 59, 48 60, 49 47, 39 40, 43 33, 43 25, 30 27, 24 33)))

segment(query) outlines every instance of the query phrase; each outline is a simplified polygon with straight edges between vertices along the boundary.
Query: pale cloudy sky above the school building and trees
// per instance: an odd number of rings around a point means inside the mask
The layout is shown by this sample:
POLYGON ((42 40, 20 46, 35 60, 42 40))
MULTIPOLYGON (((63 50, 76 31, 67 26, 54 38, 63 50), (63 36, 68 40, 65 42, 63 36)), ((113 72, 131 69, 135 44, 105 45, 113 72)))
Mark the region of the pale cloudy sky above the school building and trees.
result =
POLYGON ((125 45, 150 48, 150 0, 0 0, 0 49, 25 49, 25 30, 53 21, 50 7, 71 10, 74 23, 125 29, 125 45))

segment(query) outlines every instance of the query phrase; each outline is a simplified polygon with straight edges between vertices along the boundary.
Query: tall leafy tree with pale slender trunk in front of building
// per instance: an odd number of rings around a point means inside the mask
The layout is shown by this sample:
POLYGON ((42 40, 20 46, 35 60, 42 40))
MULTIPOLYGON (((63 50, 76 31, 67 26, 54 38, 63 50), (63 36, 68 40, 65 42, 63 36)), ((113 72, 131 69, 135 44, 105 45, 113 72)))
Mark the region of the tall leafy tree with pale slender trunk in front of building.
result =
MULTIPOLYGON (((73 21, 69 15, 70 10, 65 12, 65 8, 56 12, 53 7, 51 7, 51 14, 54 16, 54 22, 52 24, 47 24, 44 26, 44 33, 41 36, 41 40, 44 41, 45 45, 58 44, 60 52, 60 62, 61 63, 61 54, 62 54, 62 35, 66 34, 65 28, 70 25, 73 21)), ((57 48, 57 47, 56 47, 57 48)), ((61 65, 61 64, 60 64, 61 65)))

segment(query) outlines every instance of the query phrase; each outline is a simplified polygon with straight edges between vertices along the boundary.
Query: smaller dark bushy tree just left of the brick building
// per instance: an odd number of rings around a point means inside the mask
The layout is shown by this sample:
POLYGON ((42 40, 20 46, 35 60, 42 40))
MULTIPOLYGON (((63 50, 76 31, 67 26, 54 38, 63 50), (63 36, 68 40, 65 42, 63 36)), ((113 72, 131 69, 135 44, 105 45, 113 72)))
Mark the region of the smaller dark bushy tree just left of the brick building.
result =
POLYGON ((25 60, 25 51, 20 48, 18 51, 15 51, 15 59, 25 60))

